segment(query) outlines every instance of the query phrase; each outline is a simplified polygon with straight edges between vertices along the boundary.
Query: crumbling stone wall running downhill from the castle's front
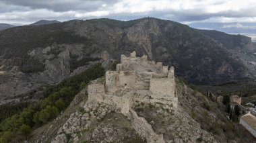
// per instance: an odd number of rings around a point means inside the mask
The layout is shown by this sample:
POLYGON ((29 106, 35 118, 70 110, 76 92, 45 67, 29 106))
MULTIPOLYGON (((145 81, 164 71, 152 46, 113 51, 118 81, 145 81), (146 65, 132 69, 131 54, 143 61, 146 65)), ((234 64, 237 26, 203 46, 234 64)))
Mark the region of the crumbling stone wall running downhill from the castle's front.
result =
POLYGON ((143 117, 139 117, 132 109, 129 115, 131 116, 131 126, 133 126, 139 136, 146 138, 148 143, 164 143, 163 135, 156 134, 152 126, 143 117))

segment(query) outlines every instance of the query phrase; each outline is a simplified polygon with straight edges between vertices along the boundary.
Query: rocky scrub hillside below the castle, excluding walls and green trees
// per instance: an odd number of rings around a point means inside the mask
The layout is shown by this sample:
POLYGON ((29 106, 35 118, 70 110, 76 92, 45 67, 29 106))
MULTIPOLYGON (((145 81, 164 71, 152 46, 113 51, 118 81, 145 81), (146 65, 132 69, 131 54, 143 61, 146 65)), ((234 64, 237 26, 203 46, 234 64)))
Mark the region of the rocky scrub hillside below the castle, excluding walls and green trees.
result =
MULTIPOLYGON (((229 122, 216 103, 179 79, 177 89, 177 109, 160 103, 138 103, 135 107, 154 132, 164 134, 166 142, 255 142, 249 132, 229 122)), ((121 113, 115 113, 105 104, 87 103, 86 90, 76 95, 57 119, 34 130, 29 142, 146 142, 121 113)))

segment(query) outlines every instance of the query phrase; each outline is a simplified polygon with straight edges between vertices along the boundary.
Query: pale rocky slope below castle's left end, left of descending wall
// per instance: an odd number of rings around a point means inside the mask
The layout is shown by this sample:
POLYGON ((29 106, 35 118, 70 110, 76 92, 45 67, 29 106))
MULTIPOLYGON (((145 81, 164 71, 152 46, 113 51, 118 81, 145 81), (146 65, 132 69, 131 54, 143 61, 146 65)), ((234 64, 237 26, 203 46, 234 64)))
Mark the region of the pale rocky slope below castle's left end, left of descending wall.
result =
POLYGON ((52 143, 82 142, 82 140, 90 142, 122 142, 127 139, 138 138, 134 131, 129 131, 131 130, 129 127, 122 127, 125 126, 125 122, 122 123, 124 125, 115 126, 115 122, 123 120, 123 116, 117 114, 117 118, 115 118, 115 115, 110 115, 113 112, 115 112, 115 109, 104 103, 86 103, 84 109, 75 111, 69 116, 67 122, 59 128, 57 136, 52 143), (71 136, 71 138, 67 140, 67 136, 71 136))

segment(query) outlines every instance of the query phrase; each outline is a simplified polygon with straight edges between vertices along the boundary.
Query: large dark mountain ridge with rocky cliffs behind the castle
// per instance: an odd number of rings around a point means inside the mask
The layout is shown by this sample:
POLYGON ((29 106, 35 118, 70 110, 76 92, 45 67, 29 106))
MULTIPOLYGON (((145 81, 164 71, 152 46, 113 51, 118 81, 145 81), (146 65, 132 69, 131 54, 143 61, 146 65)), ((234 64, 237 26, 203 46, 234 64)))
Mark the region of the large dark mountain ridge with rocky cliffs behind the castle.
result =
POLYGON ((196 84, 252 79, 255 73, 247 64, 255 60, 255 45, 246 36, 156 18, 72 20, 0 32, 1 97, 57 83, 133 50, 173 65, 176 75, 196 84))

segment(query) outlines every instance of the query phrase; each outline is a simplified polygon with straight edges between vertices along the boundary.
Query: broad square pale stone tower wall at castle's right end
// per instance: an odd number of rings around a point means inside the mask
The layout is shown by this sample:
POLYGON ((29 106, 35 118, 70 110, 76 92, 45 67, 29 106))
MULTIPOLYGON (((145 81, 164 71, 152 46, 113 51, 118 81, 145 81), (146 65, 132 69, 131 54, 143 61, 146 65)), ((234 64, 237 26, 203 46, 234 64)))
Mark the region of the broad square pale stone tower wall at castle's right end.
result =
POLYGON ((172 97, 176 97, 174 95, 175 85, 174 80, 170 78, 152 78, 150 79, 150 91, 152 93, 158 93, 163 95, 170 95, 172 97))

